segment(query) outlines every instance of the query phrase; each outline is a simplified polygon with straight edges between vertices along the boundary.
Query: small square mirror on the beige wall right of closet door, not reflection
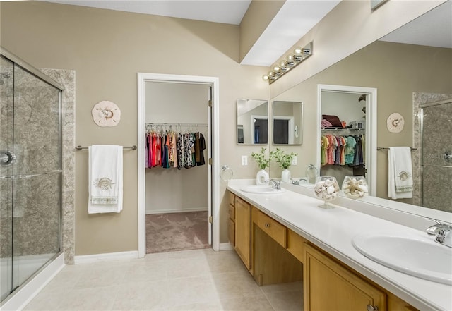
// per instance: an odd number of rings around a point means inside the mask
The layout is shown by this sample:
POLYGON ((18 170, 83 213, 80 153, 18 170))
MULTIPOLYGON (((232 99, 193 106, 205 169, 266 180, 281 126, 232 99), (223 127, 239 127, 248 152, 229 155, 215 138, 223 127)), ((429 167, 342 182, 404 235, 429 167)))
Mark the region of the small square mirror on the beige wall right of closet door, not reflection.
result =
POLYGON ((268 101, 237 99, 237 144, 268 144, 268 101))

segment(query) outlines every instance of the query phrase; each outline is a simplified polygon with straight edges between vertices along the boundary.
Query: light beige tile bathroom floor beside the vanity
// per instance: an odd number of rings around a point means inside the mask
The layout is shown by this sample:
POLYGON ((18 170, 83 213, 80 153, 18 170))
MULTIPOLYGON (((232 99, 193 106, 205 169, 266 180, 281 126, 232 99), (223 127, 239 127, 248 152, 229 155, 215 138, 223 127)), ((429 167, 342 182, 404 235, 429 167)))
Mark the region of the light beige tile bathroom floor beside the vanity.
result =
POLYGON ((302 282, 259 287, 236 252, 212 249, 76 264, 24 310, 302 310, 302 282))

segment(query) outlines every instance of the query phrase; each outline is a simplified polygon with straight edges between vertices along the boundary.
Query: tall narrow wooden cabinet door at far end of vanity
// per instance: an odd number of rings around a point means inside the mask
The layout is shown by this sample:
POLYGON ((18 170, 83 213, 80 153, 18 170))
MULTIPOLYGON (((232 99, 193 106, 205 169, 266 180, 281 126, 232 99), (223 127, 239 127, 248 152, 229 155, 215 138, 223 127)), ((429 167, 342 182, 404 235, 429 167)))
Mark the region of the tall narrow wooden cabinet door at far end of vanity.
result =
POLYGON ((251 205, 239 197, 235 200, 235 250, 251 269, 251 205))

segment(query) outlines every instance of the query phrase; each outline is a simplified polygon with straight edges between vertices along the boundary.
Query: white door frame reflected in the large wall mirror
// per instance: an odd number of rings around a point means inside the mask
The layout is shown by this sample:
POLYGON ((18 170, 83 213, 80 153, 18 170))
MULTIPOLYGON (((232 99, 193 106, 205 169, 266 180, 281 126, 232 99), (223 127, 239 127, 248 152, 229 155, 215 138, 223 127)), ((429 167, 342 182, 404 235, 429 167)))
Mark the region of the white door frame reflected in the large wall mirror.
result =
POLYGON ((376 195, 376 88, 346 85, 317 85, 317 148, 316 159, 320 171, 321 99, 322 91, 367 94, 366 99, 366 169, 369 195, 376 195))

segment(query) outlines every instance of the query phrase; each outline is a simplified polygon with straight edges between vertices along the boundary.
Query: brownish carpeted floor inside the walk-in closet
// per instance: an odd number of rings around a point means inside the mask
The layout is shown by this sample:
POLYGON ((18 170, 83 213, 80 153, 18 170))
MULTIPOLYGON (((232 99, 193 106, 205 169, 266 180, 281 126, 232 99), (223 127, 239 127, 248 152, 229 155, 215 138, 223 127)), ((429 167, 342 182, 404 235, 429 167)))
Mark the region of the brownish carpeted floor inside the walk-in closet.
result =
POLYGON ((210 248, 208 212, 146 215, 146 253, 210 248))

